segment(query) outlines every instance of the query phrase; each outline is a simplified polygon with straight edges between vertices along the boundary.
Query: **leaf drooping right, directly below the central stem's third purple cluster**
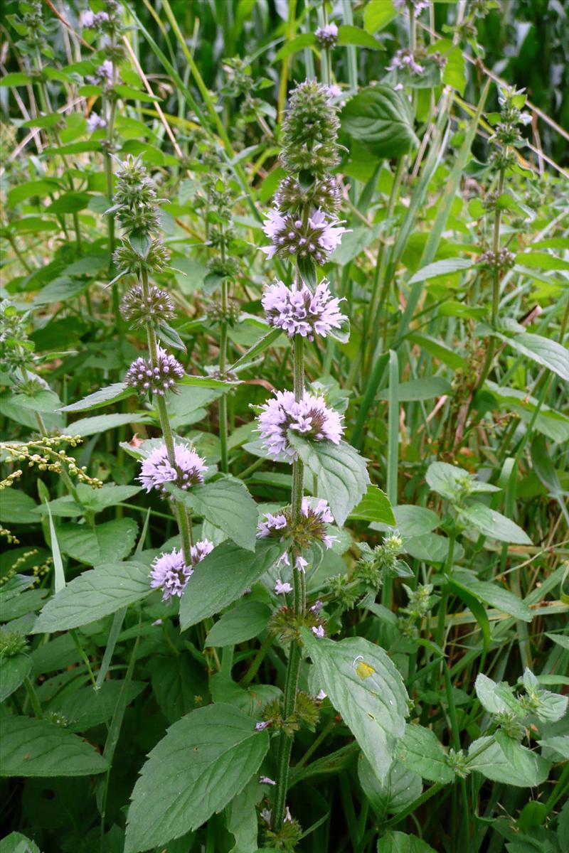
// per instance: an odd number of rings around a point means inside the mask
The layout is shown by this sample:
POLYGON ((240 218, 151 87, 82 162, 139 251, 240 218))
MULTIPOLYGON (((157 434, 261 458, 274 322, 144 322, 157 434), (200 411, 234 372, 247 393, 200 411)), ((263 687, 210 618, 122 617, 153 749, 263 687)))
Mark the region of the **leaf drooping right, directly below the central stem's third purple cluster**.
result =
POLYGON ((369 485, 365 459, 345 441, 306 441, 291 430, 288 438, 316 477, 318 496, 326 498, 336 524, 343 525, 369 485))

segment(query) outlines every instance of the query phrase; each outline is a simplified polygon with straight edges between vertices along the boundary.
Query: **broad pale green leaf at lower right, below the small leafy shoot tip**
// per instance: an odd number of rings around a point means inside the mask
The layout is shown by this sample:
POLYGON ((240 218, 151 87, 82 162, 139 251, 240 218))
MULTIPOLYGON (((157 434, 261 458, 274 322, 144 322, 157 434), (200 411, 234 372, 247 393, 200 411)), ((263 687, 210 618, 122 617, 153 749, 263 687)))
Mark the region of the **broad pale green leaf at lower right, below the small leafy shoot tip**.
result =
POLYGON ((534 787, 541 785, 549 775, 547 761, 503 732, 474 740, 468 756, 472 756, 468 761, 469 769, 478 770, 486 779, 506 785, 534 787))

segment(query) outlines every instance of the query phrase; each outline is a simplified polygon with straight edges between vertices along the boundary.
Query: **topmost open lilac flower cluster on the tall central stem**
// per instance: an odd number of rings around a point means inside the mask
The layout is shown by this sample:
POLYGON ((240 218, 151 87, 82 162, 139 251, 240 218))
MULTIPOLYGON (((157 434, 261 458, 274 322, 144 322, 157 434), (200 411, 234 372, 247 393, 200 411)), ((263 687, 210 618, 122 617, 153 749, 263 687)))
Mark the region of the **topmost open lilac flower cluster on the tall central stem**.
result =
POLYGON ((314 258, 316 264, 324 264, 334 249, 340 245, 345 228, 340 219, 330 213, 316 210, 304 219, 292 214, 282 215, 276 207, 267 214, 264 233, 270 238, 271 245, 261 249, 267 258, 282 255, 290 258, 314 258))

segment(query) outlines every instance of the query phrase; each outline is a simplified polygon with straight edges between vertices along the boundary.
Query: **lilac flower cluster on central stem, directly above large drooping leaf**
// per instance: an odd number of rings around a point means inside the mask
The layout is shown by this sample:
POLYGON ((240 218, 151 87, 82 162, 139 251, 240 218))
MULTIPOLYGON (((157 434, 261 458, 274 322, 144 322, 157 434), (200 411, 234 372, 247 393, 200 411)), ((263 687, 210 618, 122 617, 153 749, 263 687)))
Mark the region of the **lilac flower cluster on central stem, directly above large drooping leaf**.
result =
POLYGON ((322 397, 305 392, 297 401, 292 391, 277 391, 261 408, 258 432, 271 459, 292 463, 297 458, 296 450, 288 441, 289 429, 312 441, 340 444, 344 432, 342 416, 328 409, 322 397))

